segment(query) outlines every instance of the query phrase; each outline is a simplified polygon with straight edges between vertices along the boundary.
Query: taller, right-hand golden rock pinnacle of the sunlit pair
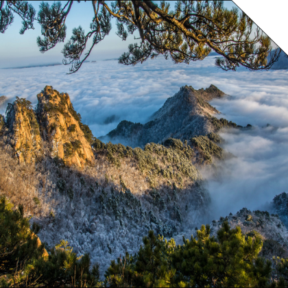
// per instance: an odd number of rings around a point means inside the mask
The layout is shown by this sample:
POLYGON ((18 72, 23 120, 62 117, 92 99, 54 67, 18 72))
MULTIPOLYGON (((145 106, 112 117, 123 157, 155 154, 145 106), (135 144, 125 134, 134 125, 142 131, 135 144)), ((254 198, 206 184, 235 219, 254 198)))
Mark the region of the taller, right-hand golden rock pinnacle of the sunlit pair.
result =
POLYGON ((78 167, 91 162, 94 159, 91 144, 81 129, 81 117, 73 109, 69 95, 46 86, 37 98, 40 132, 43 140, 49 143, 51 156, 78 167))

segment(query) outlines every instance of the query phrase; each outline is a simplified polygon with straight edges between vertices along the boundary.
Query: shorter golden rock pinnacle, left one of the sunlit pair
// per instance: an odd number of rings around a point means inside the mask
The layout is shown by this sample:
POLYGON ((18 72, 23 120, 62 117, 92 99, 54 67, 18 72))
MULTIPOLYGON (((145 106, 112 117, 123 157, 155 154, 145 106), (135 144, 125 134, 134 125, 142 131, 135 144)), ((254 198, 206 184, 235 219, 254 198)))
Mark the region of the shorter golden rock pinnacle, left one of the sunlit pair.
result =
POLYGON ((41 155, 39 125, 31 102, 19 99, 8 104, 6 125, 10 145, 14 148, 20 162, 32 163, 41 155))

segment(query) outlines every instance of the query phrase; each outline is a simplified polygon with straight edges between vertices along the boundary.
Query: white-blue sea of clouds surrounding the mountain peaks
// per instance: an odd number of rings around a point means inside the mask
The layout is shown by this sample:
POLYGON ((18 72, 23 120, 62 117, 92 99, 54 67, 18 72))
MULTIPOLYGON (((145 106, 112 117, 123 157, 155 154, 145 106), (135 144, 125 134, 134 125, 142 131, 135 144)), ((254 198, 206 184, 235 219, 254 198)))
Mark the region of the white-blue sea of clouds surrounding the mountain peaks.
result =
POLYGON ((199 89, 214 84, 231 96, 211 101, 223 113, 219 117, 254 126, 221 132, 224 149, 235 157, 217 163, 217 180, 202 171, 215 217, 244 206, 265 208, 274 195, 288 190, 288 71, 221 71, 215 68, 214 57, 189 65, 164 58, 134 67, 117 60, 88 62, 72 75, 66 75, 69 69, 64 66, 5 69, 0 70, 0 96, 11 101, 25 97, 36 104, 37 93, 51 85, 69 93, 83 123, 101 136, 123 119, 145 123, 180 86, 199 89))

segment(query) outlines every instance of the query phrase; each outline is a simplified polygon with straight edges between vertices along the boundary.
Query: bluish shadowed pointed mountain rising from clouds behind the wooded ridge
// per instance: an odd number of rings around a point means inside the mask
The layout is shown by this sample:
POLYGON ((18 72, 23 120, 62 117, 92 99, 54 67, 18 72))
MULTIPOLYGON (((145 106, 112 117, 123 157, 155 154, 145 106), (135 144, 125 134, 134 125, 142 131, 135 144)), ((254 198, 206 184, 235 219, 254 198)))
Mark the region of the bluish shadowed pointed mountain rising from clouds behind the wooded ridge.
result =
POLYGON ((152 115, 151 121, 145 124, 121 121, 115 130, 100 139, 143 147, 146 143, 161 143, 170 137, 184 141, 193 136, 215 132, 217 126, 214 122, 217 119, 213 115, 219 111, 207 101, 224 95, 214 85, 205 90, 183 86, 152 115))

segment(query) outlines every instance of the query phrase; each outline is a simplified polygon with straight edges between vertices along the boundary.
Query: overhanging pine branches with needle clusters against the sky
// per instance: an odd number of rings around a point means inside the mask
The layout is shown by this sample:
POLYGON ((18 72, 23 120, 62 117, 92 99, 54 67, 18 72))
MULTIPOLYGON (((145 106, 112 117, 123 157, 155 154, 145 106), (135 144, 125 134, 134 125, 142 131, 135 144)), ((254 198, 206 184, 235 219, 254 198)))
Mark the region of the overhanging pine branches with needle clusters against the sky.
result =
MULTIPOLYGON (((165 1, 92 1, 91 30, 85 34, 81 26, 73 28, 73 35, 62 50, 63 64, 71 64, 70 73, 78 71, 93 47, 109 34, 113 17, 117 20, 117 35, 123 40, 136 30, 140 35, 140 43, 129 45, 128 52, 119 58, 121 64, 143 63, 160 54, 166 59, 170 56, 175 63, 189 64, 215 51, 219 54, 216 66, 226 71, 235 71, 240 66, 250 70, 271 68, 280 49, 272 52, 271 40, 258 27, 252 36, 252 20, 243 13, 239 16, 237 8, 227 10, 223 2, 177 1, 171 10, 165 1), (91 37, 92 45, 82 56, 91 37)), ((0 32, 4 33, 13 22, 14 14, 23 19, 21 34, 34 29, 35 20, 41 25, 43 38, 39 36, 37 44, 44 53, 64 42, 65 21, 72 5, 73 1, 67 1, 64 8, 60 2, 51 6, 43 2, 36 16, 36 10, 27 1, 1 1, 0 32)))

